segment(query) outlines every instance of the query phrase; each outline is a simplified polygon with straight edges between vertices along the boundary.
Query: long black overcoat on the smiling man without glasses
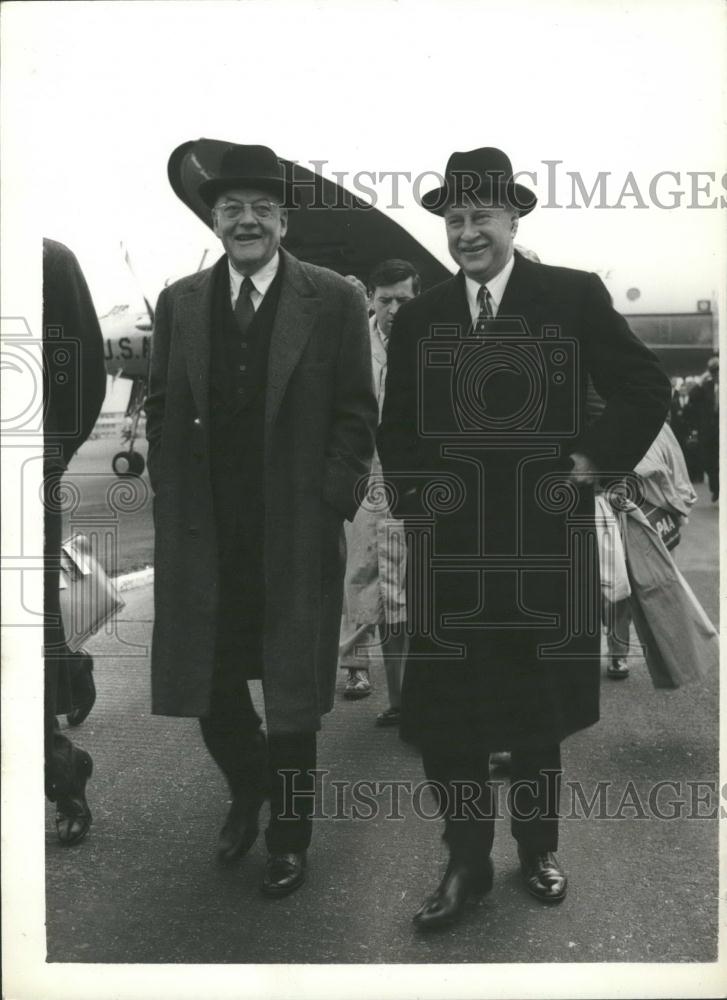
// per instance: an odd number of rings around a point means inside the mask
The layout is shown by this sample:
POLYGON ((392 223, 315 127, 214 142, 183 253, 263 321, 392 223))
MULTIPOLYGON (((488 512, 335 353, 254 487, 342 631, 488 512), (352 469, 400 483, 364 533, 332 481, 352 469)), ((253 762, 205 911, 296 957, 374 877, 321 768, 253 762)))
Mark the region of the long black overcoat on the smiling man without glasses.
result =
POLYGON ((389 343, 378 447, 409 540, 402 735, 544 746, 598 719, 593 489, 633 469, 670 385, 594 274, 516 254, 471 336, 460 273, 408 303, 389 343), (588 376, 606 400, 587 426, 588 376))

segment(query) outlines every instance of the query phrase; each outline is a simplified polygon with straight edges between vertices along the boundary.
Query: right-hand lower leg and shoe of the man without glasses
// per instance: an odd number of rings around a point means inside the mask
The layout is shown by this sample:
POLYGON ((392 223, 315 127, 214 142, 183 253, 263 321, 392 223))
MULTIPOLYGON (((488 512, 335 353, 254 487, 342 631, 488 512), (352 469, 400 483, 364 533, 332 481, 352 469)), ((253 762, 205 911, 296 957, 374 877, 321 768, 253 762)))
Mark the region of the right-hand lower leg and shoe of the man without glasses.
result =
POLYGON ((566 876, 555 857, 562 774, 560 746, 513 750, 511 767, 511 830, 528 891, 543 902, 559 902, 567 889, 566 876))

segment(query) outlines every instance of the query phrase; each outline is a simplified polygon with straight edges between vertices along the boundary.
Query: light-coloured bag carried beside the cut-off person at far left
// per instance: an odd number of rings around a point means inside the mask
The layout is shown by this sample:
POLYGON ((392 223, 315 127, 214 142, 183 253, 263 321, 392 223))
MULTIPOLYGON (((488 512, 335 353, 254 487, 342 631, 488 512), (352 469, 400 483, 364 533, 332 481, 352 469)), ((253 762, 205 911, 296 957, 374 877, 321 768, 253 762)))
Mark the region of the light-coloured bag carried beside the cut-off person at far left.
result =
POLYGON ((72 653, 124 607, 85 535, 72 535, 61 545, 59 597, 66 646, 72 653))

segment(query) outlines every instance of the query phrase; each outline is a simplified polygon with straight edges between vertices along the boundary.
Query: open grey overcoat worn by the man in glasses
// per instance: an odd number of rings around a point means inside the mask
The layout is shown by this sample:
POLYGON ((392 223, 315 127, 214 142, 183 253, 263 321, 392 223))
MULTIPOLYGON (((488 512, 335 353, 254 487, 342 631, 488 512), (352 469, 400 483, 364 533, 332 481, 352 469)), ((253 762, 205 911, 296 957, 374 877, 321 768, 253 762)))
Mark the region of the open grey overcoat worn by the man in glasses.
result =
MULTIPOLYGON (((339 275, 281 250, 264 417, 263 690, 273 733, 330 711, 345 547, 378 418, 366 309, 339 275)), ((213 290, 227 258, 159 296, 146 401, 154 490, 152 711, 209 710, 219 558, 210 473, 213 290)))

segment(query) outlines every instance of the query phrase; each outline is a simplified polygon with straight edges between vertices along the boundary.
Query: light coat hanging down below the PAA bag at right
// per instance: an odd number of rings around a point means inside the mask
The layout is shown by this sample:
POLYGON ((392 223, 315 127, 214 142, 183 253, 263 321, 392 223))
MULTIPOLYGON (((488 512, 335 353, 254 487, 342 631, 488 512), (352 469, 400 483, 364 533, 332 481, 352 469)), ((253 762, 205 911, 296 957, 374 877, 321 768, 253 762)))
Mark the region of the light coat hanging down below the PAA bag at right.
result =
POLYGON ((719 667, 719 636, 643 512, 619 513, 631 610, 654 687, 700 681, 719 667))

